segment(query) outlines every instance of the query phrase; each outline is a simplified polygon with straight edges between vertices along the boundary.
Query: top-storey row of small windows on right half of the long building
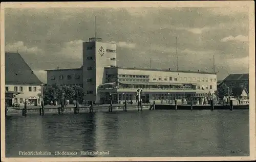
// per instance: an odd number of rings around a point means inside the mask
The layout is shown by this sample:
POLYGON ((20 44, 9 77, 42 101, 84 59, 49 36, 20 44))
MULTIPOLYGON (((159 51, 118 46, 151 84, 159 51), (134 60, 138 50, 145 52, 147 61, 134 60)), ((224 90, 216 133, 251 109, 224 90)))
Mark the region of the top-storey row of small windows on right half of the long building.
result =
MULTIPOLYGON (((156 80, 156 76, 153 76, 153 80, 156 80)), ((158 80, 162 80, 162 77, 159 76, 159 77, 158 77, 158 80)), ((165 77, 163 78, 163 80, 164 80, 164 81, 167 81, 167 80, 168 80, 168 77, 165 76, 165 77)), ((197 77, 197 78, 196 78, 196 77, 193 77, 193 78, 192 78, 192 77, 184 77, 184 78, 182 78, 182 77, 174 77, 174 78, 173 78, 172 76, 169 76, 169 81, 173 81, 173 80, 174 80, 174 81, 178 81, 178 80, 179 80, 179 81, 185 81, 185 82, 187 82, 187 81, 190 82, 190 81, 192 81, 192 80, 193 80, 193 81, 196 81, 196 80, 197 80, 198 82, 204 82, 204 81, 205 81, 205 82, 208 82, 208 80, 209 80, 209 82, 212 82, 212 80, 214 80, 214 82, 216 82, 216 78, 214 78, 214 79, 212 79, 212 78, 209 78, 209 79, 208 79, 207 77, 201 77, 201 78, 200 78, 200 77, 197 77)))

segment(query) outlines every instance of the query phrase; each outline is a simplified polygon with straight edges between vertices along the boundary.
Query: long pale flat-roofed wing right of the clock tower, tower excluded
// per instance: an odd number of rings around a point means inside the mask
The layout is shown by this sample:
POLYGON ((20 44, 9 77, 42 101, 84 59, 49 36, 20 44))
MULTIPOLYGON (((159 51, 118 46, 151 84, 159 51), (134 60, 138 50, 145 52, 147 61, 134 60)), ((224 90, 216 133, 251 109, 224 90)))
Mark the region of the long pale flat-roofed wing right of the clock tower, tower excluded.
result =
POLYGON ((163 69, 138 69, 106 67, 104 83, 98 87, 101 102, 137 100, 137 90, 142 90, 144 102, 181 99, 183 97, 206 97, 217 90, 216 73, 172 71, 163 69))

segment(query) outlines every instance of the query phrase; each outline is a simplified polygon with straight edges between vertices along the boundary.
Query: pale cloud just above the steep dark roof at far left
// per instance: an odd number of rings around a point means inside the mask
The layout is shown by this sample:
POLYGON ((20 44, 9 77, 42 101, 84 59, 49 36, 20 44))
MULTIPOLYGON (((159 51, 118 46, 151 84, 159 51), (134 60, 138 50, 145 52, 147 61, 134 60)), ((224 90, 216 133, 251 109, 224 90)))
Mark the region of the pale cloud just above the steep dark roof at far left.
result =
POLYGON ((18 51, 18 52, 26 52, 26 53, 40 53, 42 52, 42 49, 34 46, 34 47, 27 47, 24 45, 23 41, 18 41, 16 43, 9 43, 5 46, 5 51, 18 51))

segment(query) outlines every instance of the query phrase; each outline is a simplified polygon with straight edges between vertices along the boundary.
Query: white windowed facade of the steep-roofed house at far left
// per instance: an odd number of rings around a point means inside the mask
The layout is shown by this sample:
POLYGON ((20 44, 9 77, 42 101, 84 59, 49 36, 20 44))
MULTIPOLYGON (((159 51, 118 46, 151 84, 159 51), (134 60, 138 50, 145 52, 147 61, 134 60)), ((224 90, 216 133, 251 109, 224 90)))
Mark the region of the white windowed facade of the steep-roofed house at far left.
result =
MULTIPOLYGON (((22 94, 18 94, 14 98, 12 98, 12 103, 17 101, 17 103, 19 103, 20 106, 24 106, 25 99, 28 101, 31 101, 32 99, 32 100, 36 100, 37 106, 41 105, 41 99, 38 96, 38 94, 41 93, 40 85, 5 85, 5 87, 8 87, 8 91, 15 91, 14 87, 17 87, 17 92, 23 92, 22 94), (22 91, 20 89, 21 87, 22 87, 22 91), (31 87, 31 91, 29 91, 29 87, 31 87)), ((8 98, 8 96, 6 97, 8 98)), ((30 102, 28 103, 29 105, 35 105, 30 102)))

